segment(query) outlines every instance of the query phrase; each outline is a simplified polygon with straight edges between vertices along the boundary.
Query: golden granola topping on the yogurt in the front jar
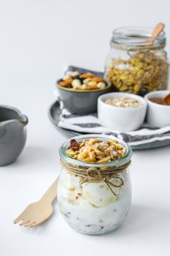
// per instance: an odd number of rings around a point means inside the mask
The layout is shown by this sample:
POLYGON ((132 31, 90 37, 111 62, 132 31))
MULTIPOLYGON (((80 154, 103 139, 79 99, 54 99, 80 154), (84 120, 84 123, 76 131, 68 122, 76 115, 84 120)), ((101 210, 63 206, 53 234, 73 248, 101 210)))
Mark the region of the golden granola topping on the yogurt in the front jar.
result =
POLYGON ((77 140, 70 141, 70 147, 66 150, 69 157, 83 162, 110 162, 120 159, 126 153, 126 148, 117 140, 99 140, 90 138, 78 143, 77 140))

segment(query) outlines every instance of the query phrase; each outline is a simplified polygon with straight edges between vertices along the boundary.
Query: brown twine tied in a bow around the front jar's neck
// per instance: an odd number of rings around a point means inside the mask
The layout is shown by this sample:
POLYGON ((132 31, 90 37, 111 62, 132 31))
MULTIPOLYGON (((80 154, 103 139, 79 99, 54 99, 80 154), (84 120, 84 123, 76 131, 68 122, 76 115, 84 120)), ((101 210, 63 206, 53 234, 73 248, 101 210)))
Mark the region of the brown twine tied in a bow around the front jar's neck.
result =
POLYGON ((117 195, 113 191, 112 187, 122 187, 124 184, 123 179, 118 176, 118 173, 123 173, 123 171, 126 170, 130 164, 131 160, 119 167, 108 167, 107 170, 102 170, 98 167, 80 167, 69 165, 68 163, 64 162, 63 159, 61 159, 61 165, 63 165, 63 167, 65 167, 70 173, 74 174, 75 176, 79 176, 81 178, 81 184, 88 181, 103 181, 107 184, 107 187, 109 187, 110 191, 115 196, 117 195), (109 181, 111 178, 116 178, 119 181, 118 184, 114 184, 113 182, 109 181))

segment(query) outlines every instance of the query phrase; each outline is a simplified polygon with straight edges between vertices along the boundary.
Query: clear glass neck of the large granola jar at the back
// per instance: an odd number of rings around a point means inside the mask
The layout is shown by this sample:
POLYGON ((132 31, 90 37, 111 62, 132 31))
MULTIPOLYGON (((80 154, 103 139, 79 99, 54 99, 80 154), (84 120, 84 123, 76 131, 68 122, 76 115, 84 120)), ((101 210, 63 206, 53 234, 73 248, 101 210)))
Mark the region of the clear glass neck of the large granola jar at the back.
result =
POLYGON ((154 38, 153 28, 147 27, 124 27, 115 29, 112 33, 111 47, 125 50, 150 49, 158 50, 165 48, 166 34, 164 31, 154 38))

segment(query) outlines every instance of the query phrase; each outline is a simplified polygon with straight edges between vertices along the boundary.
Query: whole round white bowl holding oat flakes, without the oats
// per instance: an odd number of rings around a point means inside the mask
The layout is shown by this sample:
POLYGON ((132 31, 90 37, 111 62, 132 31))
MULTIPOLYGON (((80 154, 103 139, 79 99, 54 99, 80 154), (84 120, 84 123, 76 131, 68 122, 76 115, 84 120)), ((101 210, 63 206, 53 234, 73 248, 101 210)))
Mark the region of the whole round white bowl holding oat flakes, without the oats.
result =
POLYGON ((144 122, 147 111, 147 102, 136 94, 112 92, 98 97, 98 119, 101 125, 120 132, 139 129, 144 122), (138 100, 142 105, 137 108, 120 108, 108 105, 105 99, 128 97, 138 100))

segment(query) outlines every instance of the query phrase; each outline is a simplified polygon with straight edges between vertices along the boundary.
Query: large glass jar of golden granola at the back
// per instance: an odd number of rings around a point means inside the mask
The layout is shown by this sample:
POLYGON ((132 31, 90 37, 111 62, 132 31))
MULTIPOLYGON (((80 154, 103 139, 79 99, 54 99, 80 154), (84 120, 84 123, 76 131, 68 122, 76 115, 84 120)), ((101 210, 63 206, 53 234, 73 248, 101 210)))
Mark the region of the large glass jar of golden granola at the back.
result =
POLYGON ((153 41, 152 28, 115 29, 105 65, 105 78, 114 91, 144 95, 166 89, 167 64, 165 32, 153 41))

